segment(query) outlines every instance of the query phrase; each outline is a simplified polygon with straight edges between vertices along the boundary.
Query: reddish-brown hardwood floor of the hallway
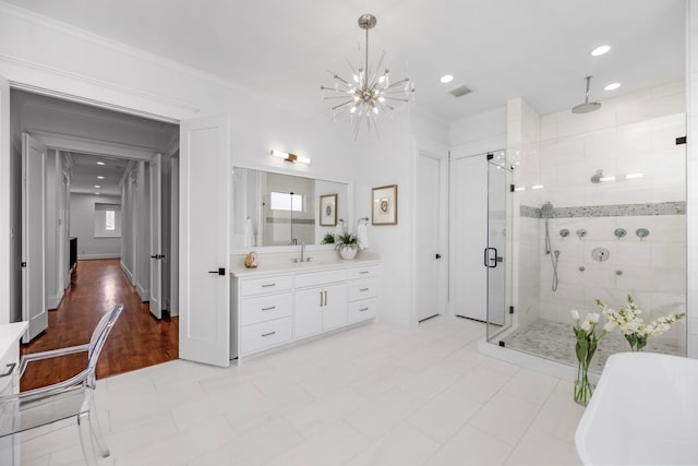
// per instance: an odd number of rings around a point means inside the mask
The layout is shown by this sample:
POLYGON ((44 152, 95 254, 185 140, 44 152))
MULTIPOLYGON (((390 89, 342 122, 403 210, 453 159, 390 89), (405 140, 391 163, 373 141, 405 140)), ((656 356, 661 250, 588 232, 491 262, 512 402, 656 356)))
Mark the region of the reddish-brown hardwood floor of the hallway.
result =
MULTIPOLYGON (((59 308, 49 311, 48 330, 23 345, 21 353, 88 343, 99 319, 119 303, 123 303, 123 311, 99 357, 98 379, 179 357, 179 319, 155 319, 118 259, 79 261, 59 308)), ((86 354, 77 354, 32 362, 22 378, 22 390, 64 380, 84 369, 86 361, 86 354)))

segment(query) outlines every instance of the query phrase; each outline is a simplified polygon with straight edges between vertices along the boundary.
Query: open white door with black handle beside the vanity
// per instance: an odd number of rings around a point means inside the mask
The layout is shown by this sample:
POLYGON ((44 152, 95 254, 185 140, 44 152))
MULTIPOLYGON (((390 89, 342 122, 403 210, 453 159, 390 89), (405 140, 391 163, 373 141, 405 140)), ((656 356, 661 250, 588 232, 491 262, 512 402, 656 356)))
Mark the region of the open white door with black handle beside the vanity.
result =
POLYGON ((180 124, 179 357, 230 363, 230 136, 227 117, 180 124))

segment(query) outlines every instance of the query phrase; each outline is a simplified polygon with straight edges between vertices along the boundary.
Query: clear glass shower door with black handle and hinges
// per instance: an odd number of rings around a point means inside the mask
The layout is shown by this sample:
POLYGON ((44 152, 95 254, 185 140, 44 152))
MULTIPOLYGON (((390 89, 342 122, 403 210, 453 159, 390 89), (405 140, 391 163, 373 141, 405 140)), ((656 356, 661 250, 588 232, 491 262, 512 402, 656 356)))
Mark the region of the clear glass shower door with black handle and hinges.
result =
POLYGON ((507 218, 510 218, 510 171, 504 151, 488 160, 488 247, 484 265, 488 270, 488 340, 509 325, 508 286, 510 286, 512 248, 507 218))

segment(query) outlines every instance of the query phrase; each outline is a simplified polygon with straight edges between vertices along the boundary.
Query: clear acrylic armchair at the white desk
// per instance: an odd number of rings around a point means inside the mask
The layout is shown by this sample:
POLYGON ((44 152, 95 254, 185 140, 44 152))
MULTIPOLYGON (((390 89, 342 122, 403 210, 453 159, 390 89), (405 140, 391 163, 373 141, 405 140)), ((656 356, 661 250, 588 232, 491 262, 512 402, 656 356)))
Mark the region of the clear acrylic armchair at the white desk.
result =
POLYGON ((36 360, 87 351, 87 368, 62 382, 39 389, 0 396, 0 439, 25 430, 75 417, 85 462, 97 464, 96 452, 109 456, 95 410, 95 370, 99 353, 119 319, 123 304, 107 312, 97 324, 88 344, 24 355, 16 372, 19 379, 26 366, 36 360))

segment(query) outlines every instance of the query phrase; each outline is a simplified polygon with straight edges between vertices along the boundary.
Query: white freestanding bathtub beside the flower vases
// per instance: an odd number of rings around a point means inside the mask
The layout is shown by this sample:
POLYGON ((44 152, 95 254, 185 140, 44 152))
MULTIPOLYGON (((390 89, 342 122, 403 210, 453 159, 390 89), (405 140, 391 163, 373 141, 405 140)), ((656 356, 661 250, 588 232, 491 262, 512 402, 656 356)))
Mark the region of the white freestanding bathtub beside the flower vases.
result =
POLYGON ((585 465, 698 464, 698 360, 611 356, 575 444, 585 465))

